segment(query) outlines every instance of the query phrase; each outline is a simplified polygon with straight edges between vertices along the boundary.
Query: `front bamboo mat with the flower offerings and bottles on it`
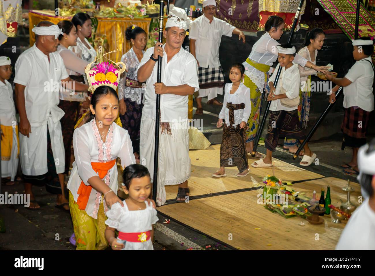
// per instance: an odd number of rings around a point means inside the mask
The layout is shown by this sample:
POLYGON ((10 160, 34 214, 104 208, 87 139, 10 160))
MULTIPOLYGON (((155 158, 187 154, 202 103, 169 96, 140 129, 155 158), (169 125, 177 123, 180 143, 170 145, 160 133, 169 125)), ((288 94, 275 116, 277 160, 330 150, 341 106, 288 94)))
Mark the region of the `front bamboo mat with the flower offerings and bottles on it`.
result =
MULTIPOLYGON (((332 203, 346 199, 341 190, 345 180, 324 178, 295 184, 296 190, 312 195, 313 190, 331 187, 332 203)), ((351 200, 357 203, 360 195, 358 184, 351 200)), ((285 219, 257 203, 258 191, 194 199, 186 204, 169 204, 157 210, 178 222, 184 223, 223 243, 244 250, 334 250, 344 223, 335 224, 324 216, 325 223, 311 225, 301 217, 285 219), (300 225, 303 222, 304 225, 300 225), (258 229, 260 228, 260 229, 258 229), (229 237, 232 236, 232 240, 229 237), (317 240, 318 239, 318 240, 317 240)), ((339 204, 336 204, 339 205, 339 204)))

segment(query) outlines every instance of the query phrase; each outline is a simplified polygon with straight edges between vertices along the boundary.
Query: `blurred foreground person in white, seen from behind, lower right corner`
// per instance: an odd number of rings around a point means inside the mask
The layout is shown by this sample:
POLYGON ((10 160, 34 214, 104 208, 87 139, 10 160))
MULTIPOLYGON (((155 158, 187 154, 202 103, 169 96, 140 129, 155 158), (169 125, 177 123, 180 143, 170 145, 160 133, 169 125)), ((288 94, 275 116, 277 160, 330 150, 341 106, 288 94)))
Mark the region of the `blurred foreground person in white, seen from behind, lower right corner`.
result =
POLYGON ((375 250, 375 139, 358 150, 363 203, 351 214, 336 250, 375 250))

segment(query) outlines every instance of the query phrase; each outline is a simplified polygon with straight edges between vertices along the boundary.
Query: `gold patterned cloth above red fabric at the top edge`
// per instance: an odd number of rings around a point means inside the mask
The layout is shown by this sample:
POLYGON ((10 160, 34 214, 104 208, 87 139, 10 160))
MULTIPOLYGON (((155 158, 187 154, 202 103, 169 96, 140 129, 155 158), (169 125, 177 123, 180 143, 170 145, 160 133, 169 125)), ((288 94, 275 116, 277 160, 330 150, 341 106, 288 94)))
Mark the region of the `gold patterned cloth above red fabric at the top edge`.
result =
MULTIPOLYGON (((259 0, 259 12, 291 12, 296 13, 300 0, 259 0)), ((301 14, 305 13, 306 2, 303 3, 301 14)))

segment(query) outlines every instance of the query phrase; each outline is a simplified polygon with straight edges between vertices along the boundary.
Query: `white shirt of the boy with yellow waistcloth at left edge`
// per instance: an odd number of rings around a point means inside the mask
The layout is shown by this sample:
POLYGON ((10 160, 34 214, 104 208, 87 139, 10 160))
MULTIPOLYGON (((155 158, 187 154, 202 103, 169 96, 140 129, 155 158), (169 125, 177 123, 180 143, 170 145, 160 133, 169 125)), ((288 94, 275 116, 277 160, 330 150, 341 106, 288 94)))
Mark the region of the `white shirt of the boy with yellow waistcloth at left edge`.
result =
POLYGON ((5 80, 5 83, 0 81, 0 124, 5 126, 17 124, 16 108, 13 101, 12 84, 5 80))

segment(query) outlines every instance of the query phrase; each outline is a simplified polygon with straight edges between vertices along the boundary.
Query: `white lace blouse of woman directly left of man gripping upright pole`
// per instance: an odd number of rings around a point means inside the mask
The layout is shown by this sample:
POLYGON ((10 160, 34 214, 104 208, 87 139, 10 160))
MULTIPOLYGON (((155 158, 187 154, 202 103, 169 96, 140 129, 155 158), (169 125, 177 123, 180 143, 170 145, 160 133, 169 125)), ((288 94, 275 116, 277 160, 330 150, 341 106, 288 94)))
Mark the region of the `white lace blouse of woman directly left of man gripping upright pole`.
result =
MULTIPOLYGON (((144 51, 142 51, 144 53, 144 51)), ((120 83, 118 84, 118 98, 130 98, 131 101, 135 101, 137 104, 141 104, 142 88, 134 88, 125 85, 126 77, 132 80, 138 80, 137 72, 139 60, 137 55, 134 53, 133 47, 130 48, 127 53, 123 54, 121 61, 125 63, 127 72, 121 75, 120 83)))

